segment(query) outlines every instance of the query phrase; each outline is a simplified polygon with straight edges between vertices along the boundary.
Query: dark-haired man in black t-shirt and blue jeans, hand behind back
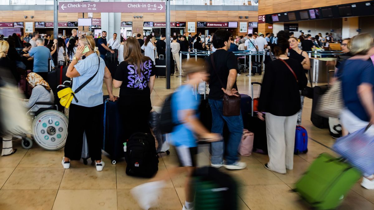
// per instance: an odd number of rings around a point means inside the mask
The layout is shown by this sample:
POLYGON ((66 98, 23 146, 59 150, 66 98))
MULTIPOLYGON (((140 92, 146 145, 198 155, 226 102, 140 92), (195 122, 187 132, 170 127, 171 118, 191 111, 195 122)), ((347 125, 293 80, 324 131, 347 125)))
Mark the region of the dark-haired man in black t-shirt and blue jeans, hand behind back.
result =
POLYGON ((238 96, 236 86, 237 61, 230 49, 231 33, 226 30, 218 30, 213 36, 213 45, 217 49, 206 58, 206 66, 209 67, 209 105, 212 110, 212 133, 222 133, 226 121, 230 131, 227 142, 225 162, 223 161, 224 142, 212 142, 212 167, 226 167, 227 169, 245 169, 246 164, 239 162, 237 148, 243 133, 242 115, 223 116, 223 96, 238 96))

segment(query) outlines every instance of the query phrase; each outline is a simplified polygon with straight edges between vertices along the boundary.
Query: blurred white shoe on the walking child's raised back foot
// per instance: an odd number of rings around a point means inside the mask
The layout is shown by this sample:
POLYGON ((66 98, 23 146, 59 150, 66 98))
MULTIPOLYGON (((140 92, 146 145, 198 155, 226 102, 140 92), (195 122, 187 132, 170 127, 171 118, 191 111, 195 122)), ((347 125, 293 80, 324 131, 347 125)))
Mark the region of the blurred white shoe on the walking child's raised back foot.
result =
POLYGON ((130 192, 140 208, 148 210, 157 203, 159 191, 164 185, 163 181, 148 182, 132 188, 130 192))

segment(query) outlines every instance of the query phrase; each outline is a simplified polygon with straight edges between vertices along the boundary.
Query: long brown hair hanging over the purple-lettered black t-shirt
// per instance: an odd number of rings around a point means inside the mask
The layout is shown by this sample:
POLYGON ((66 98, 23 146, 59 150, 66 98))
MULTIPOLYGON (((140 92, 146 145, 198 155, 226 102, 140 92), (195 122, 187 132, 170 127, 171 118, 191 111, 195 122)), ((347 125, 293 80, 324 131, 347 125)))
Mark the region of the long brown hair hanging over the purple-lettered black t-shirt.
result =
MULTIPOLYGON (((148 39, 148 37, 147 37, 148 39)), ((139 41, 134 37, 129 37, 126 40, 125 50, 123 50, 124 62, 137 65, 137 74, 140 76, 143 70, 143 63, 150 58, 141 54, 139 41)))

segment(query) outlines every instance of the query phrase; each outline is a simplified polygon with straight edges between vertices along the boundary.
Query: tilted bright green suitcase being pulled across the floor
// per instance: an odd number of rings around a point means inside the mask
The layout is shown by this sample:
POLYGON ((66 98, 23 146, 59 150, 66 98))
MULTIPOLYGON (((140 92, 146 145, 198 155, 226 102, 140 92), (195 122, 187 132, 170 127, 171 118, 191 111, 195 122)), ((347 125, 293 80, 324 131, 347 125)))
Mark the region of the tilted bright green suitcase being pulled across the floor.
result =
POLYGON ((335 209, 360 177, 361 173, 342 158, 322 153, 294 190, 316 209, 335 209))

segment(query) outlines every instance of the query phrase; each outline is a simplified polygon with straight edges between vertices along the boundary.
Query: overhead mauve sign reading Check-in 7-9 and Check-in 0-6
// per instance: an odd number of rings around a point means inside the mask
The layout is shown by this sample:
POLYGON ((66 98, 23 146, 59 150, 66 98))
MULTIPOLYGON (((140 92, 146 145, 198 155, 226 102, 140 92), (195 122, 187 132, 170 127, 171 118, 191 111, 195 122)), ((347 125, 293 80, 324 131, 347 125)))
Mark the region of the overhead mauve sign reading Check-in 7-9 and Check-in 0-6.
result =
POLYGON ((165 2, 66 2, 58 3, 58 12, 165 12, 165 2))

